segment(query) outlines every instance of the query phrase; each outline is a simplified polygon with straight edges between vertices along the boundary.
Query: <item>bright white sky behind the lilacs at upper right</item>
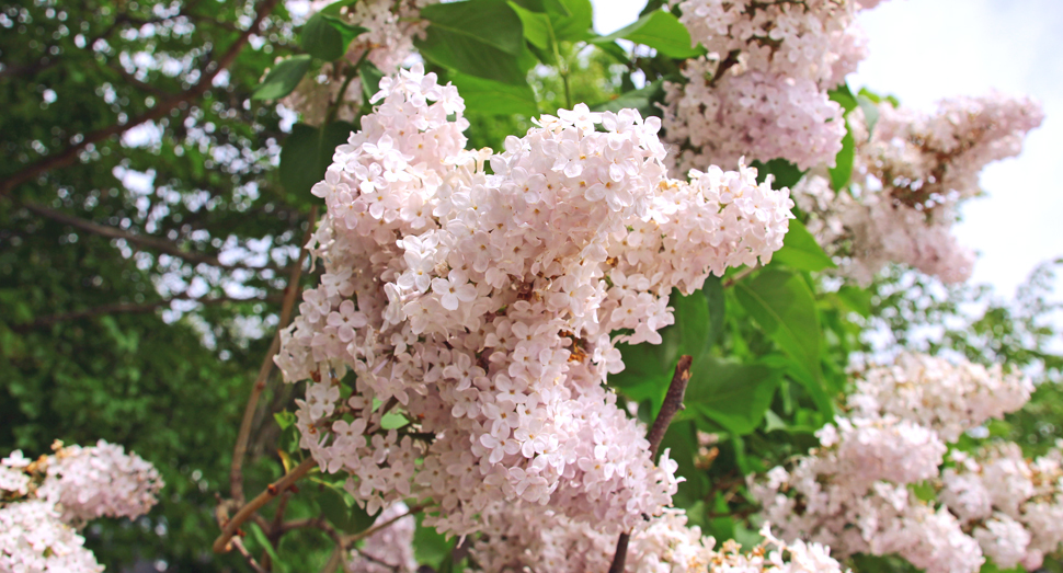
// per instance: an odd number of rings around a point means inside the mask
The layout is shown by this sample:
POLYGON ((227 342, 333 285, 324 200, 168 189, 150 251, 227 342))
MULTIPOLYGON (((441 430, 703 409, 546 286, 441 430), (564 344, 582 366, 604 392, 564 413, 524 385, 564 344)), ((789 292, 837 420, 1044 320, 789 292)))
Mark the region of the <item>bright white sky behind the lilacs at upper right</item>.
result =
MULTIPOLYGON (((592 0, 608 34, 638 18, 644 0, 592 0)), ((1063 256, 1063 2, 890 0, 860 14, 870 56, 848 83, 931 112, 941 99, 997 90, 1044 107, 1022 153, 982 172, 986 197, 968 202, 953 233, 979 252, 972 282, 1013 296, 1038 263, 1063 256)), ((1063 291, 1063 279, 1055 291, 1063 291)))

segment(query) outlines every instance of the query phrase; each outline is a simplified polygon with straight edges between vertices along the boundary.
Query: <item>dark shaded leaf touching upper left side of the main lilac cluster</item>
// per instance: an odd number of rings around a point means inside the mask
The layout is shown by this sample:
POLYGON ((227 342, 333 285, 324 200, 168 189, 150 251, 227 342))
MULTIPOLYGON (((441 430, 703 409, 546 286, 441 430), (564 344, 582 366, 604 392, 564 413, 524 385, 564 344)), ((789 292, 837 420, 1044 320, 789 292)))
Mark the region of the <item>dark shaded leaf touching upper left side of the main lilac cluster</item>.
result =
POLYGON ((281 184, 290 200, 309 204, 310 187, 324 179, 335 148, 347 141, 354 126, 332 122, 323 128, 296 124, 281 147, 281 184))

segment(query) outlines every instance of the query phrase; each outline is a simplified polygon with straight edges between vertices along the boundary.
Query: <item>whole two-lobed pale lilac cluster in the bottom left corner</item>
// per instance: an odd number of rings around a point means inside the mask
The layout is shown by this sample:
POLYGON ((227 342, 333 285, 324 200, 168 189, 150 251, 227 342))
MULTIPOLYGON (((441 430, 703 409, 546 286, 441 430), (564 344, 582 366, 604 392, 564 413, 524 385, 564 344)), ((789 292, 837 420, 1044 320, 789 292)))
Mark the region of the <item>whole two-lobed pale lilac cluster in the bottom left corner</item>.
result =
POLYGON ((102 516, 138 517, 162 488, 158 471, 121 446, 62 447, 0 460, 0 572, 103 571, 76 528, 102 516))

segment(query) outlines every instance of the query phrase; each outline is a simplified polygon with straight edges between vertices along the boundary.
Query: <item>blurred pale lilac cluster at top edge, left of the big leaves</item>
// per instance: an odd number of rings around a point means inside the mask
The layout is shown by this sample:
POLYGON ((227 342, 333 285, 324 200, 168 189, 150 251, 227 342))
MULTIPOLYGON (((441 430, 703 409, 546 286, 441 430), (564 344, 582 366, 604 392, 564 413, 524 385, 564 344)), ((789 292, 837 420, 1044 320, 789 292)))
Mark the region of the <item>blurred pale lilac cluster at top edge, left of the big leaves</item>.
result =
MULTIPOLYGON (((396 73, 413 54, 413 41, 424 35, 427 22, 421 20, 421 9, 439 0, 361 0, 344 5, 336 18, 353 25, 367 28, 347 48, 344 57, 328 62, 318 75, 307 77, 290 95, 282 100, 285 106, 299 112, 305 124, 320 125, 328 116, 329 107, 338 105, 336 119, 352 122, 357 117, 363 102, 361 78, 345 81, 346 73, 357 73, 351 67, 365 60, 385 75, 396 73), (341 94, 340 90, 346 89, 341 94)), ((333 0, 310 3, 311 14, 319 12, 333 0)))

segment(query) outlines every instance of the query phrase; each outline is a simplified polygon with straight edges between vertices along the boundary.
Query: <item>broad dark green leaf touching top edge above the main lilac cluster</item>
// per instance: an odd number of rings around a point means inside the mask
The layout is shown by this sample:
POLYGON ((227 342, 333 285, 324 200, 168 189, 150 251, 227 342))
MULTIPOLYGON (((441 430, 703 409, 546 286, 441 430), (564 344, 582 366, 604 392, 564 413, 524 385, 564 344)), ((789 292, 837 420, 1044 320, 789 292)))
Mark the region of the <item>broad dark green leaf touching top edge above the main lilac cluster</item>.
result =
POLYGON ((432 4, 421 9, 421 18, 432 23, 430 33, 445 31, 468 42, 492 46, 513 56, 524 50, 521 18, 505 2, 468 0, 432 4))

